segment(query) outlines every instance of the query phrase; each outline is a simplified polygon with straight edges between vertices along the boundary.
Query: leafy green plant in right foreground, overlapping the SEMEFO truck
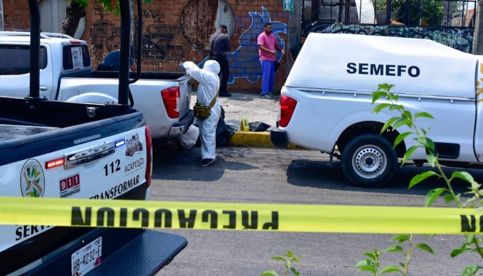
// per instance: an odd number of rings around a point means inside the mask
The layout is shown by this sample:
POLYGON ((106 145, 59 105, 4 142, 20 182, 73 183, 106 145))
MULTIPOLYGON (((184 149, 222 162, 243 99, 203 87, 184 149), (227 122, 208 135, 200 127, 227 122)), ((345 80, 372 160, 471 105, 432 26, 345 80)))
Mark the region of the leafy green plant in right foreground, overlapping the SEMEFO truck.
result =
MULTIPOLYGON (((432 1, 428 1, 428 3, 431 4, 432 1)), ((435 176, 438 177, 438 179, 444 179, 446 187, 440 187, 430 190, 426 195, 426 199, 424 200, 424 206, 431 206, 431 204, 433 204, 433 202, 438 197, 440 197, 440 195, 444 195, 444 202, 446 203, 446 205, 452 204, 454 202, 454 204, 456 204, 459 208, 477 208, 477 210, 483 210, 483 190, 480 189, 482 185, 477 183, 477 181, 475 181, 475 179, 473 179, 473 177, 468 172, 453 172, 451 178, 448 178, 444 174, 440 162, 438 161, 438 156, 435 153, 436 148, 433 140, 426 137, 429 132, 429 128, 424 129, 417 127, 417 119, 434 119, 433 116, 428 112, 417 112, 413 116, 410 111, 405 110, 404 106, 397 104, 397 100, 399 99, 399 97, 391 92, 391 88, 393 87, 393 85, 389 85, 387 83, 380 84, 380 86, 378 86, 377 88, 377 91, 373 92, 372 94, 373 104, 381 99, 386 100, 386 102, 384 103, 378 103, 378 105, 375 106, 375 108, 373 109, 373 113, 377 114, 379 112, 382 112, 383 110, 387 110, 388 112, 398 114, 398 116, 392 117, 386 122, 386 124, 384 124, 381 133, 385 132, 386 130, 392 131, 396 130, 397 128, 404 128, 404 132, 398 135, 395 139, 394 148, 404 139, 408 139, 408 137, 411 137, 411 135, 413 135, 412 139, 416 141, 417 145, 408 148, 408 150, 404 154, 402 165, 411 158, 411 155, 415 150, 417 150, 417 148, 424 148, 426 152, 428 152, 428 154, 426 155, 426 160, 431 165, 431 167, 437 169, 437 172, 429 170, 427 172, 423 172, 420 175, 416 175, 415 177, 413 177, 413 179, 411 179, 408 188, 412 188, 413 186, 420 184, 420 182, 424 181, 424 179, 427 179, 428 177, 435 176), (460 200, 461 194, 455 194, 453 186, 451 184, 451 181, 453 181, 453 179, 462 179, 463 181, 466 181, 470 184, 469 191, 464 193, 464 195, 468 196, 466 201, 462 202, 460 200)), ((428 235, 424 236, 428 237, 428 235)), ((431 235, 431 237, 433 236, 434 235, 431 235)), ((466 242, 460 248, 456 248, 451 252, 451 257, 457 257, 462 253, 469 252, 476 253, 480 255, 480 257, 482 257, 483 259, 483 248, 480 248, 480 244, 483 242, 483 239, 477 238, 473 234, 465 235, 465 239, 466 242)), ((373 275, 377 275, 377 273, 382 274, 388 272, 400 272, 402 273, 402 275, 405 276, 407 275, 409 261, 411 259, 411 253, 414 249, 424 250, 428 253, 436 255, 435 251, 427 244, 417 244, 416 246, 413 246, 412 234, 396 235, 391 239, 391 242, 393 241, 397 241, 400 244, 404 244, 407 242, 408 250, 404 251, 401 246, 390 246, 386 250, 379 252, 376 248, 374 248, 374 253, 364 253, 364 255, 369 256, 370 259, 365 259, 357 263, 356 266, 359 267, 359 271, 371 271, 373 275), (386 252, 402 253, 406 258, 406 263, 404 264, 400 262, 399 265, 404 268, 404 270, 400 270, 400 268, 395 265, 386 266, 385 268, 382 268, 380 270, 379 259, 381 255, 386 252)), ((464 270, 462 271, 462 275, 475 275, 477 271, 480 270, 480 268, 483 267, 475 265, 466 266, 466 268, 464 268, 464 270)))

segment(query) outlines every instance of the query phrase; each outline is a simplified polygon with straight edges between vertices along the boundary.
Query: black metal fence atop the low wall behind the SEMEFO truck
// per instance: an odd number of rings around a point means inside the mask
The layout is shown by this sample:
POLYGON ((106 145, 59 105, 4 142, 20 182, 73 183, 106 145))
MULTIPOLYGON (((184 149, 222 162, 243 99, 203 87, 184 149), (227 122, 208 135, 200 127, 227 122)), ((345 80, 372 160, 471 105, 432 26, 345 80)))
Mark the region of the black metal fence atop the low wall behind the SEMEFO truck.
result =
POLYGON ((473 27, 475 0, 303 0, 302 24, 473 27))

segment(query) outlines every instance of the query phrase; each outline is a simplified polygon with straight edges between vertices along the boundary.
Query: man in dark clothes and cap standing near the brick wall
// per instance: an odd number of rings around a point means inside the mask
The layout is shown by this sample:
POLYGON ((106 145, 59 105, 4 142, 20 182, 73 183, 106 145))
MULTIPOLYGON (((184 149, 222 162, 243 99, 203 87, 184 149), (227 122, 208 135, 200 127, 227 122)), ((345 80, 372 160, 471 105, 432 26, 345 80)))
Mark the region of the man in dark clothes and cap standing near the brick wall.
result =
POLYGON ((218 61, 221 77, 221 84, 219 86, 220 97, 230 97, 231 94, 226 92, 226 83, 230 77, 230 66, 228 66, 228 59, 226 59, 226 52, 231 50, 231 44, 226 35, 226 26, 220 25, 217 32, 210 37, 210 59, 218 61))

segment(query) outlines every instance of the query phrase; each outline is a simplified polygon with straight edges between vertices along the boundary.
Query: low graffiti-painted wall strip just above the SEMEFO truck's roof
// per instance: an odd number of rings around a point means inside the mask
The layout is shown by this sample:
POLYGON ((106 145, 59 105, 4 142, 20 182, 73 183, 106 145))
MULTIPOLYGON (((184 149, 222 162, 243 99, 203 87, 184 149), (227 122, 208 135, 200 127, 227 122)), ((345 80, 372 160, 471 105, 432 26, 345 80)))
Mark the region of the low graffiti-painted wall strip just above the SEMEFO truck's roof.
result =
POLYGON ((437 26, 401 26, 401 25, 344 25, 341 23, 311 23, 303 33, 346 33, 378 35, 384 37, 406 37, 430 39, 462 52, 473 52, 474 28, 469 27, 437 27, 437 26))

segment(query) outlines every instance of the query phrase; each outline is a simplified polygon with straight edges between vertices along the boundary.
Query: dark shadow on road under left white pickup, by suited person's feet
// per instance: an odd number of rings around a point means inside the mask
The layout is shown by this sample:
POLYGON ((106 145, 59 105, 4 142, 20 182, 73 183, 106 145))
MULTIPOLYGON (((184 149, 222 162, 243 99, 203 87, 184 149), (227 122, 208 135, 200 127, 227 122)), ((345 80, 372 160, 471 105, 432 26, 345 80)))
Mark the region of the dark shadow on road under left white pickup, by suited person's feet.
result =
POLYGON ((257 167, 238 161, 226 161, 218 156, 216 161, 207 167, 199 166, 197 157, 201 148, 190 150, 158 150, 153 155, 152 179, 217 181, 225 170, 253 170, 257 167))

